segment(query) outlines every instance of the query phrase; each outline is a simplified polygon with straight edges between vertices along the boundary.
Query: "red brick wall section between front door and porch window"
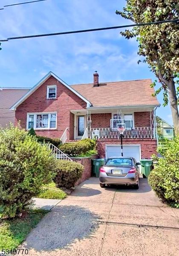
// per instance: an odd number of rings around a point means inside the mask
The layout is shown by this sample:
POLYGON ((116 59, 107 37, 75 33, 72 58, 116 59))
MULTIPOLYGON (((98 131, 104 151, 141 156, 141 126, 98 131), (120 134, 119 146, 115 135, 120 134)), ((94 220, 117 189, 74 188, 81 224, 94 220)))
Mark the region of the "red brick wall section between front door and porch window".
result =
POLYGON ((91 128, 107 128, 110 127, 111 113, 91 114, 91 128))

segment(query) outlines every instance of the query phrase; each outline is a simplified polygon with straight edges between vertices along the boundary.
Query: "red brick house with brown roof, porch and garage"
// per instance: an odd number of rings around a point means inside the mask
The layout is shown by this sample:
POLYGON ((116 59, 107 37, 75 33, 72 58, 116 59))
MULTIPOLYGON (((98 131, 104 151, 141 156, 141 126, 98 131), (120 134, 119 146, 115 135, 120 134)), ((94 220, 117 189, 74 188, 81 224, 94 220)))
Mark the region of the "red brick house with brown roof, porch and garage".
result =
POLYGON ((49 72, 11 108, 15 122, 62 142, 96 137, 99 157, 120 155, 118 128, 126 128, 124 156, 148 158, 156 152, 155 110, 151 79, 69 86, 49 72))

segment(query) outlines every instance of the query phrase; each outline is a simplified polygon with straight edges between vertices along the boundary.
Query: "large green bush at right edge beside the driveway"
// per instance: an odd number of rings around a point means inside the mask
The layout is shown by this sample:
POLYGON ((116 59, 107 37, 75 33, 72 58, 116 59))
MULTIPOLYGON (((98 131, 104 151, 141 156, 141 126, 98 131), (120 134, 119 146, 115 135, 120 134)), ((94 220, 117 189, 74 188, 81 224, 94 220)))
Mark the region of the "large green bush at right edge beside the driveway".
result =
POLYGON ((150 173, 149 183, 163 201, 171 205, 179 204, 179 136, 168 141, 165 148, 158 148, 164 158, 154 157, 157 161, 150 173))

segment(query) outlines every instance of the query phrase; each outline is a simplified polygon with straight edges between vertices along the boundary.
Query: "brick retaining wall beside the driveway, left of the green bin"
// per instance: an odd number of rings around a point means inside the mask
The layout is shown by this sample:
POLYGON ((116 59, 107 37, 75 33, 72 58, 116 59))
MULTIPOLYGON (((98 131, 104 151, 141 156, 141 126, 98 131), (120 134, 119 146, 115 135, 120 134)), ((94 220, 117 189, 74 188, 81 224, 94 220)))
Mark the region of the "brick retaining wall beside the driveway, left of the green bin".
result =
POLYGON ((92 159, 96 159, 97 155, 93 155, 92 157, 81 157, 81 158, 72 158, 73 161, 77 163, 81 163, 84 166, 84 171, 82 173, 81 179, 77 181, 75 186, 79 185, 84 180, 87 180, 91 177, 92 172, 92 159))

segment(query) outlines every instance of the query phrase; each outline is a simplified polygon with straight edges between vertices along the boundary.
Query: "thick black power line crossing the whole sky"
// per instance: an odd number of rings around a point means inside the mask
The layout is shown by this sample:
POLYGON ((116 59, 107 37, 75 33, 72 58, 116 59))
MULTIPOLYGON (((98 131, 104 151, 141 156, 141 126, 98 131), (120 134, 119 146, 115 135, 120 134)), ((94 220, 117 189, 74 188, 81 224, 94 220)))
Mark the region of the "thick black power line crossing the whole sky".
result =
POLYGON ((104 27, 104 28, 97 28, 97 29, 83 29, 83 30, 75 30, 75 31, 67 31, 67 32, 40 34, 40 35, 17 36, 17 37, 10 37, 7 39, 2 39, 2 40, 0 40, 0 42, 14 40, 14 39, 36 38, 36 37, 51 36, 51 35, 67 35, 67 34, 93 32, 93 31, 100 31, 100 30, 109 30, 109 29, 121 29, 121 28, 134 27, 134 26, 146 26, 146 25, 153 25, 153 24, 157 25, 157 24, 168 23, 168 22, 179 24, 179 19, 162 20, 162 21, 154 21, 154 22, 147 22, 147 23, 137 23, 137 24, 130 24, 130 25, 122 25, 122 26, 111 26, 111 27, 104 27))

